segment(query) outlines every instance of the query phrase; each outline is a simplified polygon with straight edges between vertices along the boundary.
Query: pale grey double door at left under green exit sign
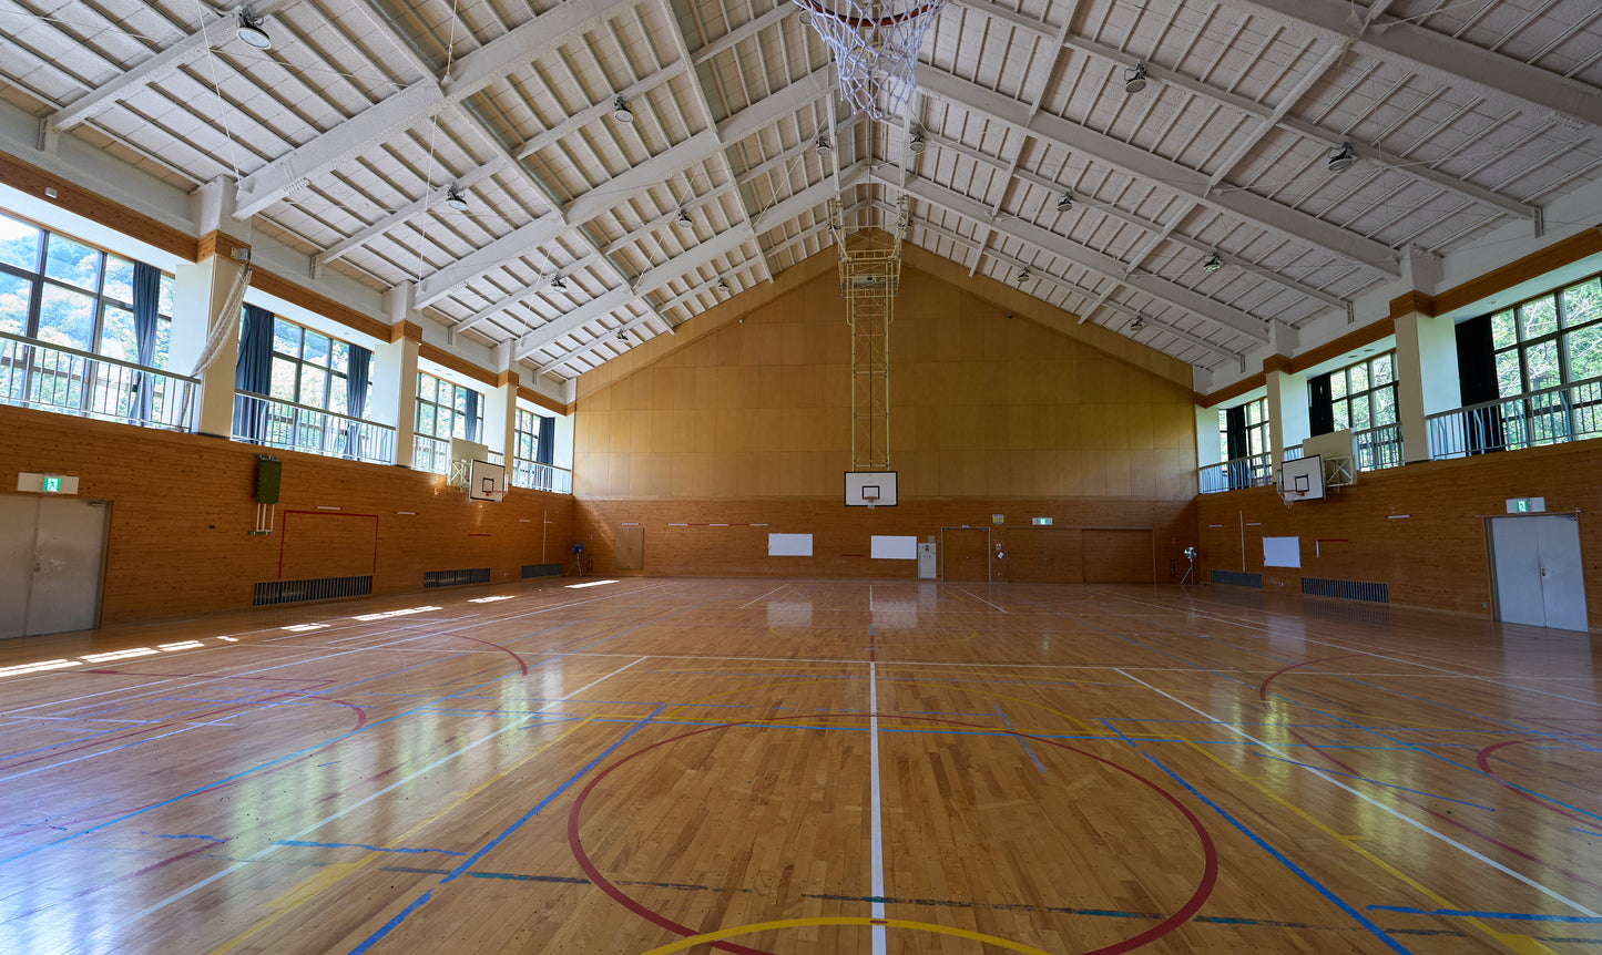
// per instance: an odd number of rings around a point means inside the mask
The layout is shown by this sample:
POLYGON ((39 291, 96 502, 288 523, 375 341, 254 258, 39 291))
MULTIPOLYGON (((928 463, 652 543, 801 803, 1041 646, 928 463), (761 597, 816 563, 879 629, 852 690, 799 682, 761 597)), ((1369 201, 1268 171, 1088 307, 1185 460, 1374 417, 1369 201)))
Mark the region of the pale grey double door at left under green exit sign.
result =
POLYGON ((0 494, 0 638, 96 624, 106 512, 104 501, 0 494))

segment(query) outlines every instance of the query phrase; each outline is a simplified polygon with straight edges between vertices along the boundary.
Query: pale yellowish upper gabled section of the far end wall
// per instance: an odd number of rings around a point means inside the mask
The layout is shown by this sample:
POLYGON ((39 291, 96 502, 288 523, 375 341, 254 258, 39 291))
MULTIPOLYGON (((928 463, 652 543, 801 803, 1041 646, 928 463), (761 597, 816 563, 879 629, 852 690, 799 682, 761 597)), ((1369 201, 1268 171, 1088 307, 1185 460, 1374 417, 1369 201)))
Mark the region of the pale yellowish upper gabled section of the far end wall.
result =
MULTIPOLYGON (((929 267, 940 272, 904 269, 891 328, 889 446, 902 499, 1195 493, 1189 379, 1009 318, 947 275, 956 266, 929 267)), ((815 272, 735 315, 604 387, 580 379, 580 499, 841 493, 851 334, 838 275, 815 272)))

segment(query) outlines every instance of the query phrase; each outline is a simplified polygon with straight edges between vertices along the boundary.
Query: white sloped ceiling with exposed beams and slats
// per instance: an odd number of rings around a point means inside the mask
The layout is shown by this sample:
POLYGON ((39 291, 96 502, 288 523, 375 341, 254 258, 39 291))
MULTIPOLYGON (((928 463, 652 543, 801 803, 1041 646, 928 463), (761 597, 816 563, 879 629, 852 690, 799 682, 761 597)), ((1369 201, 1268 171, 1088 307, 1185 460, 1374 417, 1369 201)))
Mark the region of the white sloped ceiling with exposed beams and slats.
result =
POLYGON ((0 0, 0 98, 557 379, 820 251, 835 195, 1214 366, 1602 179, 1596 0, 947 0, 899 123, 788 0, 256 0, 268 51, 237 10, 0 0))

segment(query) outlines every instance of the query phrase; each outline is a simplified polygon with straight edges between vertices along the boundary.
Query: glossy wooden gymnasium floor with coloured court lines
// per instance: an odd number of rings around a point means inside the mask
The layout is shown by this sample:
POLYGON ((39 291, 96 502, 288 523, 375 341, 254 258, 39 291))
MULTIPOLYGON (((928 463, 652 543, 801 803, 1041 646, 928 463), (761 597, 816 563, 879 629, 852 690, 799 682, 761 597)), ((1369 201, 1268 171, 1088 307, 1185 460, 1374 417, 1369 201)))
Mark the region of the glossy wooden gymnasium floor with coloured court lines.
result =
POLYGON ((0 648, 0 952, 1602 952, 1583 633, 574 582, 0 648))

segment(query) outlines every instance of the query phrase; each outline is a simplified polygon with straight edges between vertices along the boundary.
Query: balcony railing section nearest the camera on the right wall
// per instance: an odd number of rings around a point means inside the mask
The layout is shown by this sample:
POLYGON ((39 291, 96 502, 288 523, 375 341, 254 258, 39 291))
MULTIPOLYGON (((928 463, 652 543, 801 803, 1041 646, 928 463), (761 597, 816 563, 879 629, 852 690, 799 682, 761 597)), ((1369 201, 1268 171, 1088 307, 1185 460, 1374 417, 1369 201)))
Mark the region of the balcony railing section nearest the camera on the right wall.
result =
POLYGON ((1594 438, 1602 434, 1602 376, 1424 419, 1432 461, 1594 438))

